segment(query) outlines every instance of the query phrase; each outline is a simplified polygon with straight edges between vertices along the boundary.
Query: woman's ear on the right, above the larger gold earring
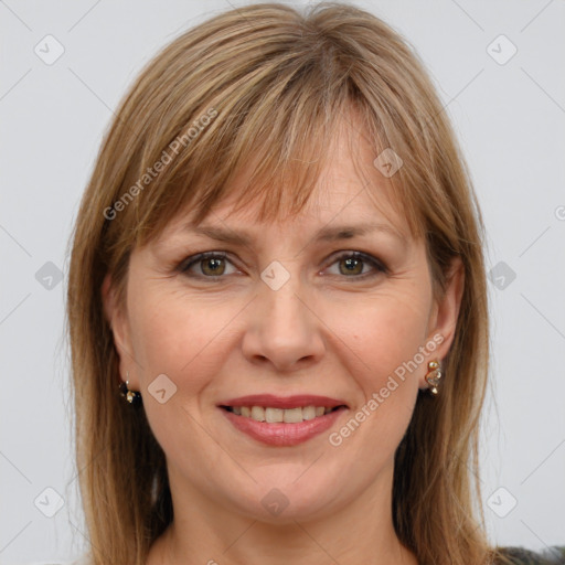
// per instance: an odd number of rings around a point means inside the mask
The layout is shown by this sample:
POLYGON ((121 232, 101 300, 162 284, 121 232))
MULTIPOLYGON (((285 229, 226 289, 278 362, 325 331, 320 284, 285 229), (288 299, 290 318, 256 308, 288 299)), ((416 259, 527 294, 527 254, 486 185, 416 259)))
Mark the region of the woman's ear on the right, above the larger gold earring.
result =
MULTIPOLYGON (((465 288, 465 266, 460 257, 454 257, 446 275, 446 288, 439 299, 434 300, 428 324, 426 343, 437 344, 430 360, 441 361, 454 342, 461 298, 465 288)), ((422 377, 422 388, 427 388, 425 376, 422 377)))

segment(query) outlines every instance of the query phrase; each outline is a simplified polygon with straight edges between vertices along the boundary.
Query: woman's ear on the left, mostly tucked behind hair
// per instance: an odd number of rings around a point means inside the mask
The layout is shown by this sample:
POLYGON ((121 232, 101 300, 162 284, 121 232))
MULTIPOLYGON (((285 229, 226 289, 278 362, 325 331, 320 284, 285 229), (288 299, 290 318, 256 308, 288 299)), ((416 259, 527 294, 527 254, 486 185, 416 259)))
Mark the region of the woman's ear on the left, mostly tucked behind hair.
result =
POLYGON ((130 340, 130 331, 125 307, 116 300, 116 292, 113 286, 110 274, 106 274, 102 284, 102 301, 104 316, 108 320, 114 337, 114 347, 119 358, 119 374, 121 381, 129 380, 129 387, 137 388, 137 376, 135 374, 135 361, 130 340), (128 374, 129 375, 126 376, 128 374))

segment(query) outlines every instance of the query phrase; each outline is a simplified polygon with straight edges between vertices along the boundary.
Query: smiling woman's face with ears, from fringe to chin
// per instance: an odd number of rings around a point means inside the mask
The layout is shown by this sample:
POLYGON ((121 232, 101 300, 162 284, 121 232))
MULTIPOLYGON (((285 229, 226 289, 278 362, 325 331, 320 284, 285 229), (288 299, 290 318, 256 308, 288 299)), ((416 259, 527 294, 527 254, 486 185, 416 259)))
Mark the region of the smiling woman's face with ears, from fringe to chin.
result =
POLYGON ((182 215, 132 253, 122 313, 105 281, 121 377, 142 394, 177 505, 280 522, 362 495, 390 501, 394 454, 428 361, 451 343, 462 279, 434 301, 424 242, 376 169, 371 185, 358 178, 347 147, 299 216, 258 223, 227 200, 201 227, 246 243, 198 234, 182 215))

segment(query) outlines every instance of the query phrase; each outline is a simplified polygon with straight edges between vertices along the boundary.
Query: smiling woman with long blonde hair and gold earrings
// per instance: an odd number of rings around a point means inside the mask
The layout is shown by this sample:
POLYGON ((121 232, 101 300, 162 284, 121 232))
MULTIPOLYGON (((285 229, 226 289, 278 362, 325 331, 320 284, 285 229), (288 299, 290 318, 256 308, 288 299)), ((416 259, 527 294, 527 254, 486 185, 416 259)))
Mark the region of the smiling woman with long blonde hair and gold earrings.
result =
POLYGON ((89 563, 526 562, 473 504, 482 224, 443 110, 344 4, 238 8, 142 72, 70 268, 89 563))

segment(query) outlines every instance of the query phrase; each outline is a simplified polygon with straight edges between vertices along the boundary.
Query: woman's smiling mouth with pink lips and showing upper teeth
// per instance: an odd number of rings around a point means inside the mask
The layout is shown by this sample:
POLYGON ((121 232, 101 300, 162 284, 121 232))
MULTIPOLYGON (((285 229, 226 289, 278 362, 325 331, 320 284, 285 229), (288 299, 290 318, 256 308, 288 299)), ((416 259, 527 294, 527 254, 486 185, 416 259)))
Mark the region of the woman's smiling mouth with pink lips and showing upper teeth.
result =
POLYGON ((290 447, 330 428, 349 407, 326 396, 253 395, 217 407, 237 430, 262 444, 290 447))

